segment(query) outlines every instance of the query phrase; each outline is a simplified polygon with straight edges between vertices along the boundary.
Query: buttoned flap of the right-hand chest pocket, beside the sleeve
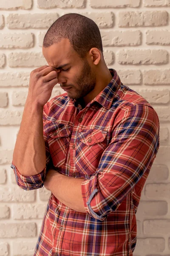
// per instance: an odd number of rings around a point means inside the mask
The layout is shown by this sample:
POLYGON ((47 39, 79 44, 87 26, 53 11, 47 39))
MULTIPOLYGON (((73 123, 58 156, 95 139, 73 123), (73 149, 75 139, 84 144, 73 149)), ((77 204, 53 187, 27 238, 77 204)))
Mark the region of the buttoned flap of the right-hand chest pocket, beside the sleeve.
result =
POLYGON ((89 129, 88 131, 81 130, 79 132, 78 140, 80 140, 82 143, 85 143, 85 145, 90 146, 105 140, 107 133, 108 133, 107 131, 102 131, 102 130, 92 130, 92 129, 89 129))

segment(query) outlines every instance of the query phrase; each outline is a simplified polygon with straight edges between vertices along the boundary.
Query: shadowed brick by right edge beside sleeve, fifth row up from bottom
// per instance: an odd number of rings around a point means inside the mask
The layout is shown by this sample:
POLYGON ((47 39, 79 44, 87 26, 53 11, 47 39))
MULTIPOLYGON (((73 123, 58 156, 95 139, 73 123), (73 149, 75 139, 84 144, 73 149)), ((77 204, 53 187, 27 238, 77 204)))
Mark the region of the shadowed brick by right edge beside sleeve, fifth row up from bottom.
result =
POLYGON ((160 182, 160 180, 167 180, 168 177, 169 177, 169 170, 166 165, 153 164, 150 169, 149 175, 147 177, 147 181, 160 182))

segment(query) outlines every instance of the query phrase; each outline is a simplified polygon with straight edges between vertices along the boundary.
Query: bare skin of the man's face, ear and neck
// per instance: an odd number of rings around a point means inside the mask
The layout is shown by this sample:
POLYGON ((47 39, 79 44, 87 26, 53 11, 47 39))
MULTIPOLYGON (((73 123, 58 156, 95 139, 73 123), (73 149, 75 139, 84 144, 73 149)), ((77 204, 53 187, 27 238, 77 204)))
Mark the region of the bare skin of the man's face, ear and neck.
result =
POLYGON ((57 70, 58 83, 67 91, 71 99, 81 99, 84 108, 111 81, 112 76, 105 64, 102 53, 91 48, 84 59, 73 49, 68 38, 50 47, 42 47, 42 53, 49 66, 57 70), (63 64, 68 64, 61 67, 63 64), (61 68, 59 68, 61 67, 61 68), (67 70, 69 68, 69 70, 67 70))

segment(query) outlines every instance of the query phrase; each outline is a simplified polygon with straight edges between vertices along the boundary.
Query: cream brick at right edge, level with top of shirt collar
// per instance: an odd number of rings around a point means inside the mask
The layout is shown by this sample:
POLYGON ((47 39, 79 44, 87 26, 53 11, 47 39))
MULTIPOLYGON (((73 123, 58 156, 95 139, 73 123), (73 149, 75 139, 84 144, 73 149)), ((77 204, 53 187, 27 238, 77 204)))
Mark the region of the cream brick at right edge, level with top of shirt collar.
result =
POLYGON ((143 71, 144 84, 170 84, 170 69, 154 69, 143 71))

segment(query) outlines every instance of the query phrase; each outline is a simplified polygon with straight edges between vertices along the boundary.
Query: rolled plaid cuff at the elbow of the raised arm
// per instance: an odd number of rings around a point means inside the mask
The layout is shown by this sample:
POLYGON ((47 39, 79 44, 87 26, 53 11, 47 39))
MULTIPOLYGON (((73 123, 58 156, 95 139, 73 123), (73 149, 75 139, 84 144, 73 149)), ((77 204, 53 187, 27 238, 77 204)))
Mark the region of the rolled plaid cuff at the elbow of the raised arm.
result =
POLYGON ((42 186, 44 185, 43 182, 45 179, 46 166, 42 170, 42 172, 33 176, 24 176, 20 174, 20 172, 18 171, 17 167, 14 165, 13 162, 11 164, 11 168, 14 170, 15 180, 17 185, 20 186, 22 189, 24 190, 39 189, 39 188, 42 188, 42 186))

